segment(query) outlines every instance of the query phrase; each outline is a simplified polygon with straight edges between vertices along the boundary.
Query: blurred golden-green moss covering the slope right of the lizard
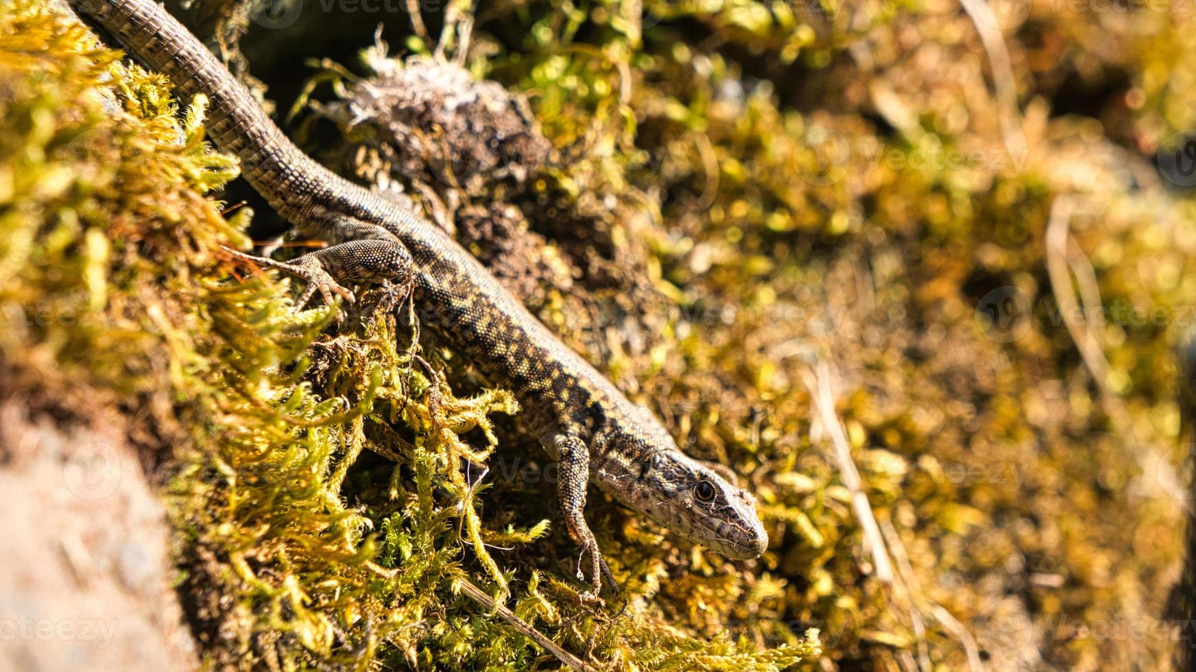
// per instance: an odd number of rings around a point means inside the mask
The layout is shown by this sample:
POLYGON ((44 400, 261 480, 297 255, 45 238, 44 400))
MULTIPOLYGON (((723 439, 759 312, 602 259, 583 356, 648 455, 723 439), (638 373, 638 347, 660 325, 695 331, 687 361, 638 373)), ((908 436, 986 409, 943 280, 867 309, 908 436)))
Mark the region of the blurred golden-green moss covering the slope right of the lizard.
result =
MULTIPOLYGON (((759 563, 690 555, 700 572, 653 606, 765 646, 818 625, 847 666, 1165 666, 1180 623, 1163 609, 1182 520, 1170 347, 1192 324, 1196 238, 1182 176, 1152 165, 1141 86, 1182 69, 1157 63, 1171 32, 1079 41, 1062 59, 1076 77, 1043 49, 1130 19, 1027 5, 1002 24, 1011 114, 991 26, 958 4, 819 8, 648 4, 629 22, 616 2, 500 4, 474 30, 469 67, 526 92, 557 149, 538 181, 488 193, 573 281, 531 303, 762 500, 759 563), (871 538, 830 447, 838 421, 871 538)), ((350 147, 379 142, 365 117, 350 147)), ((669 557, 615 515, 633 575, 669 557)))

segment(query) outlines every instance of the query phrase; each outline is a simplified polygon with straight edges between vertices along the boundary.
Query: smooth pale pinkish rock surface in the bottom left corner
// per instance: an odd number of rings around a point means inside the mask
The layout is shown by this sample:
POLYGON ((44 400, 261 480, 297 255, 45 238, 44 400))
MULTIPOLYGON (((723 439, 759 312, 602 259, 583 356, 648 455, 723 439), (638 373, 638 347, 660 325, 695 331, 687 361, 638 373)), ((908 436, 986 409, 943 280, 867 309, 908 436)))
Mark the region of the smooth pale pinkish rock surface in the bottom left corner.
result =
POLYGON ((0 399, 0 670, 197 667, 165 511, 117 426, 0 399))

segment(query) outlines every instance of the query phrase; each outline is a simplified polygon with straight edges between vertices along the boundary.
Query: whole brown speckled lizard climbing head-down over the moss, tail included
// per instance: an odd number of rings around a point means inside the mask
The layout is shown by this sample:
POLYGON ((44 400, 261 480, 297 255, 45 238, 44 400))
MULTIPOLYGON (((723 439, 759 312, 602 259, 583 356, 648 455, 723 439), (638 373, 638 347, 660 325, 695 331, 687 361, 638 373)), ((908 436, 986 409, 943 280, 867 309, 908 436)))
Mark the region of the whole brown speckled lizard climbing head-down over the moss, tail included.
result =
POLYGON ((242 176, 297 230, 328 246, 289 262, 257 259, 353 303, 347 286, 405 286, 422 320, 489 380, 509 389, 529 428, 557 462, 557 499, 581 546, 582 600, 618 592, 585 506, 591 482, 681 537, 728 558, 758 557, 768 534, 756 500, 725 465, 682 452, 660 421, 566 346, 441 227, 404 202, 353 183, 301 149, 249 91, 155 0, 67 0, 184 96, 208 99, 206 132, 242 176), (588 572, 584 573, 588 560, 588 572))

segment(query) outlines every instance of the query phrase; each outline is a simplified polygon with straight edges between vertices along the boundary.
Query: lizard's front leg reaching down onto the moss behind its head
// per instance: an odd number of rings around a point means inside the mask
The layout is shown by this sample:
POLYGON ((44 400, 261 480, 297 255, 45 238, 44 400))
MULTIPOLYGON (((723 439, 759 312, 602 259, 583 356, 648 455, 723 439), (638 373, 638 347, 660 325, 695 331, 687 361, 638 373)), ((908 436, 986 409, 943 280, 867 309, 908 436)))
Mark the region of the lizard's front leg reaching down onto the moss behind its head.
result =
POLYGON ((581 562, 590 557, 590 579, 593 591, 581 594, 582 600, 596 600, 602 592, 602 582, 605 579, 611 591, 618 594, 618 582, 611 574, 606 560, 598 549, 598 540, 586 524, 586 489, 590 485, 590 450, 585 441, 575 435, 557 435, 555 439, 557 452, 556 483, 557 497, 561 501, 561 512, 565 514, 565 526, 569 531, 569 537, 581 545, 581 558, 578 564, 578 579, 585 580, 581 572, 581 562))

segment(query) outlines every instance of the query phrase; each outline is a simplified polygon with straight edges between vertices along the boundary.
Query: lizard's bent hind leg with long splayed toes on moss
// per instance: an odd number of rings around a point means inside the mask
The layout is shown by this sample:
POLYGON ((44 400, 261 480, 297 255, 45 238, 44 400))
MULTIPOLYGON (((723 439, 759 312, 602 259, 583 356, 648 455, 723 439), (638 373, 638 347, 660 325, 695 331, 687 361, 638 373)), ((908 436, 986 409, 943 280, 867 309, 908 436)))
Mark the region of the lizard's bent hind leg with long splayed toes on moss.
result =
POLYGON ((385 281, 410 288, 414 271, 411 252, 389 231, 350 218, 334 220, 327 227, 329 238, 344 242, 309 252, 291 262, 276 262, 227 248, 226 250, 242 261, 276 268, 306 281, 307 287, 295 301, 295 306, 300 310, 316 292, 319 292, 327 304, 332 303, 334 295, 352 304, 353 292, 346 289, 344 285, 385 281))

